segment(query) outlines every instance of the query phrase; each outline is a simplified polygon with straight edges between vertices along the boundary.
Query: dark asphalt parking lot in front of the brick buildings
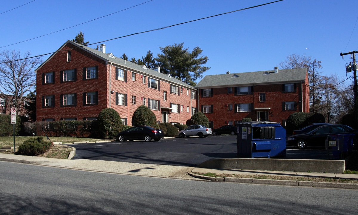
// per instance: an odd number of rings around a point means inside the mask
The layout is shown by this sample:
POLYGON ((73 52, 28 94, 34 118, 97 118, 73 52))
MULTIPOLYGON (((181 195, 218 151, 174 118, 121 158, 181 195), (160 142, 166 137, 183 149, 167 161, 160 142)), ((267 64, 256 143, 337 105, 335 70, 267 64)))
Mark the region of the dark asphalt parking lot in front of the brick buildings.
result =
MULTIPOLYGON (((108 142, 74 144, 73 159, 97 159, 133 163, 166 164, 195 167, 214 158, 237 158, 236 136, 219 135, 207 138, 169 138, 159 142, 108 142)), ((287 148, 286 159, 332 159, 321 149, 287 148)))

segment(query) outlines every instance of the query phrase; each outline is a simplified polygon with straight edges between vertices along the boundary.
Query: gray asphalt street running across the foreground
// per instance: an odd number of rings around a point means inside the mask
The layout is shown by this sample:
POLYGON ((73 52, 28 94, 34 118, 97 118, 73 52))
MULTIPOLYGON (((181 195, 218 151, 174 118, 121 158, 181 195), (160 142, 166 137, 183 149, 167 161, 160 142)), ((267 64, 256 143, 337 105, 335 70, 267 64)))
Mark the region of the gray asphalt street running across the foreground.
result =
POLYGON ((174 180, 0 162, 0 214, 356 214, 356 190, 174 180))

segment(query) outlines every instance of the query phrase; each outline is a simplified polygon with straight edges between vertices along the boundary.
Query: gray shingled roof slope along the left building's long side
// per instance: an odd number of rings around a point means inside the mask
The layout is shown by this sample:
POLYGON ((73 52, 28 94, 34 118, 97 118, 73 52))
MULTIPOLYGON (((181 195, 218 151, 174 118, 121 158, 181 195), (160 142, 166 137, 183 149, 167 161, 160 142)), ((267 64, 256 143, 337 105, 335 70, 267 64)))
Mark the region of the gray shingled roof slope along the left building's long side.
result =
MULTIPOLYGON (((82 46, 81 44, 72 42, 70 40, 68 40, 67 42, 71 42, 75 46, 82 46)), ((164 73, 161 73, 161 72, 158 72, 158 71, 155 71, 155 70, 145 69, 146 67, 144 65, 137 65, 136 63, 132 63, 130 61, 125 61, 124 59, 119 58, 119 57, 115 57, 115 58, 109 57, 109 55, 111 53, 103 53, 101 51, 98 51, 98 50, 93 49, 93 48, 89 48, 87 46, 83 46, 82 48, 86 49, 88 52, 91 52, 91 53, 97 55, 100 58, 105 59, 106 61, 112 62, 112 63, 114 63, 114 64, 116 64, 118 66, 123 66, 123 67, 129 68, 129 69, 133 70, 133 72, 140 72, 143 75, 151 76, 151 77, 154 77, 154 78, 157 77, 157 78, 159 78, 161 80, 168 81, 168 82, 170 82, 172 84, 181 85, 181 86, 184 86, 184 87, 189 88, 189 89, 195 89, 193 86, 188 85, 187 83, 185 83, 183 81, 180 81, 180 80, 178 80, 176 78, 173 78, 173 77, 168 77, 168 74, 164 74, 164 73), (145 68, 143 68, 143 67, 145 67, 145 68)))

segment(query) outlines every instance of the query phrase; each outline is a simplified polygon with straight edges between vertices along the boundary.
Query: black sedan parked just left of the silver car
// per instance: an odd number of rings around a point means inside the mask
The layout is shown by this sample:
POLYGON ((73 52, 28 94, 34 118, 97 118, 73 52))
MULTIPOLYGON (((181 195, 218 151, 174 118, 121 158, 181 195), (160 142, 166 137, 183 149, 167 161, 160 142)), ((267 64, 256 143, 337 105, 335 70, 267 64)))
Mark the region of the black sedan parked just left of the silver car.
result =
POLYGON ((116 140, 122 141, 133 141, 133 140, 144 140, 150 142, 150 140, 159 141, 164 138, 164 133, 161 129, 156 129, 151 126, 133 126, 123 132, 119 132, 116 136, 116 140))

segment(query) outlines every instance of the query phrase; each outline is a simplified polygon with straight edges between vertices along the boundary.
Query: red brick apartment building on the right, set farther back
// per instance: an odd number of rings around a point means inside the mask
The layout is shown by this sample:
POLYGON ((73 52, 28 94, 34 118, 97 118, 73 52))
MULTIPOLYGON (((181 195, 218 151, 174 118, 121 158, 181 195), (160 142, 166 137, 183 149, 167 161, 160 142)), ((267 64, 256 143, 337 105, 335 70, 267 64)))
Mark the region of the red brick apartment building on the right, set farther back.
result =
POLYGON ((306 68, 205 76, 196 86, 198 107, 211 128, 253 121, 282 125, 294 112, 309 112, 306 68))

